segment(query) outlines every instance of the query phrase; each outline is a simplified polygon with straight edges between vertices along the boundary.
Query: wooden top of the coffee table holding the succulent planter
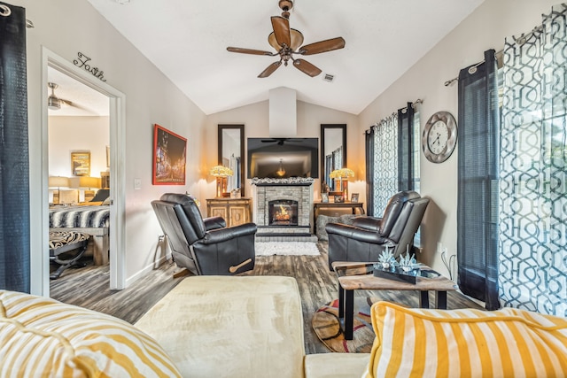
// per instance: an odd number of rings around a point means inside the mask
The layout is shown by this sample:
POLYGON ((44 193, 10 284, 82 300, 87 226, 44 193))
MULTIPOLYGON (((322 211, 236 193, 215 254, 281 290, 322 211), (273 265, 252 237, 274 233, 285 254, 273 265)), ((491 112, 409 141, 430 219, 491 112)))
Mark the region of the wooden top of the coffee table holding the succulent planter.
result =
MULTIPOLYGON (((375 277, 372 274, 373 263, 335 261, 331 264, 338 275, 338 282, 346 290, 435 290, 450 291, 456 290, 457 286, 447 277, 425 278, 416 277, 416 284, 389 280, 387 278, 375 277), (348 275, 343 275, 348 268, 348 275)), ((429 266, 421 266, 421 269, 432 270, 429 266)))

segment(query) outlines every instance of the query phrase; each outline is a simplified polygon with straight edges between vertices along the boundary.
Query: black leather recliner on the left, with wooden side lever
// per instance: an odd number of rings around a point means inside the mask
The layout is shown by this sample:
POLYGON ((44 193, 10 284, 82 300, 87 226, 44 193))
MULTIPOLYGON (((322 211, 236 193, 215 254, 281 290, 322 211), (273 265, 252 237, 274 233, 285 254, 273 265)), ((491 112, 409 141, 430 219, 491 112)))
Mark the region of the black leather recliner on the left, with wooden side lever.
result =
POLYGON ((254 223, 227 228, 221 217, 203 219, 194 200, 184 194, 166 193, 151 201, 151 206, 178 266, 198 275, 229 275, 253 269, 254 223))

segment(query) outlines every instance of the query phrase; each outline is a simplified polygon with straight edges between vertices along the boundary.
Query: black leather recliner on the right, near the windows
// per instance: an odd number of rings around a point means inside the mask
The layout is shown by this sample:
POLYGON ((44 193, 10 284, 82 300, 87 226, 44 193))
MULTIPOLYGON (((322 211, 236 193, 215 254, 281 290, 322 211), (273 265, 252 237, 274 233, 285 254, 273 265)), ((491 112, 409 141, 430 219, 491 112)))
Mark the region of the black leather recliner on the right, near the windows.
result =
POLYGON ((386 246, 397 258, 413 245, 427 204, 429 199, 415 191, 401 191, 390 198, 382 218, 356 217, 352 226, 328 223, 330 270, 333 261, 377 262, 386 246))

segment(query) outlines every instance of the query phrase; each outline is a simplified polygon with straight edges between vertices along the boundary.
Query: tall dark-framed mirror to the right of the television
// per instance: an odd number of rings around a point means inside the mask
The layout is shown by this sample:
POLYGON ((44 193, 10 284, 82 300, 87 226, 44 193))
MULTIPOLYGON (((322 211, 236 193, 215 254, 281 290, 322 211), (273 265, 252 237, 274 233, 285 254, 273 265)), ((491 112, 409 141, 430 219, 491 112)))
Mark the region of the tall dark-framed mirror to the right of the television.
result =
POLYGON ((346 167, 346 125, 321 125, 321 191, 335 191, 330 173, 346 167))

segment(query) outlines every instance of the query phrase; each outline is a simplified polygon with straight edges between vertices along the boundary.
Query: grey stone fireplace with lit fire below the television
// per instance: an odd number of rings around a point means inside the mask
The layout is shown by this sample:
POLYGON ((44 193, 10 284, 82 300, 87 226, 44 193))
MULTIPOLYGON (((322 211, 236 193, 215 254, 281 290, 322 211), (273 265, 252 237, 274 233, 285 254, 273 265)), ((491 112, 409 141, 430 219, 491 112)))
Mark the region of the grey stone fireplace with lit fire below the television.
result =
POLYGON ((313 178, 252 179, 256 240, 314 241, 313 178))

